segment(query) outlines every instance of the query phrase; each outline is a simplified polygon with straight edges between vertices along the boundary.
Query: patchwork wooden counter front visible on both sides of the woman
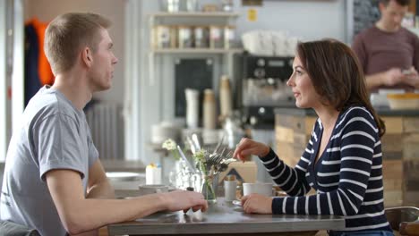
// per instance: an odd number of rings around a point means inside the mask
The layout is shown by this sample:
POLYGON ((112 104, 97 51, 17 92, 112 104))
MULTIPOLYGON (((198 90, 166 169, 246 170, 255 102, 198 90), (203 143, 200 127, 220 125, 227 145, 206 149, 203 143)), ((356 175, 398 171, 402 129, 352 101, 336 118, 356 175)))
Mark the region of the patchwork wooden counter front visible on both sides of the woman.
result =
MULTIPOLYGON (((376 111, 386 124, 381 137, 384 205, 419 206, 419 111, 376 111)), ((297 164, 316 119, 312 109, 275 110, 276 150, 286 164, 297 164)))

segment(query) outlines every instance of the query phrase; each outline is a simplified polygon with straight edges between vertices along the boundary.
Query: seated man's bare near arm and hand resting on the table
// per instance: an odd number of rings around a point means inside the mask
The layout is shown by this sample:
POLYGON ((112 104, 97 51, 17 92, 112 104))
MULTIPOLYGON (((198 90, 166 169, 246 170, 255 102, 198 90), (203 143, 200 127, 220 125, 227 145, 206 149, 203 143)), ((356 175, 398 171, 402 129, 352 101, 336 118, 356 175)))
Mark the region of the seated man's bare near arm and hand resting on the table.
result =
POLYGON ((127 199, 85 198, 80 173, 68 169, 49 171, 46 179, 61 222, 70 234, 88 232, 108 223, 135 220, 161 210, 178 211, 192 207, 193 210, 205 211, 208 207, 201 193, 190 191, 127 199))

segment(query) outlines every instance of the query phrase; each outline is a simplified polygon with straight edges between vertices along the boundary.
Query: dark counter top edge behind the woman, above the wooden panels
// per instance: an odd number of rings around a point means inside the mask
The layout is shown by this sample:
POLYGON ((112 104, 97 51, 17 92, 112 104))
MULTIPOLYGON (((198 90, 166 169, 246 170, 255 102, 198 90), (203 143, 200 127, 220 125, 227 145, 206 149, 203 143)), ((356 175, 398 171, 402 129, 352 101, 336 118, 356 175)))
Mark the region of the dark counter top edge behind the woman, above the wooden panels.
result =
MULTIPOLYGON (((375 111, 379 115, 383 116, 419 116, 419 110, 391 110, 389 108, 375 108, 375 111)), ((317 114, 312 109, 302 109, 302 108, 282 108, 278 107, 274 109, 275 114, 292 114, 298 116, 317 116, 317 114)))

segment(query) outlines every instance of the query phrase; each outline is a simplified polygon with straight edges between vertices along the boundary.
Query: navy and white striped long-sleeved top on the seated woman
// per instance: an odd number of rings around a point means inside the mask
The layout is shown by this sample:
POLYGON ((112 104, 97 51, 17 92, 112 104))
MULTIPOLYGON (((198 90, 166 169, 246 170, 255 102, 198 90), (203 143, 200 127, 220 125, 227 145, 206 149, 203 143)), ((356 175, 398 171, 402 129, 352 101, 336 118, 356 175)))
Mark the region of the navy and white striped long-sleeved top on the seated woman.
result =
POLYGON ((272 149, 261 157, 273 180, 290 196, 274 198, 272 213, 344 215, 345 231, 391 232, 384 215, 381 140, 372 114, 361 106, 341 112, 315 164, 322 131, 318 119, 295 168, 272 149), (317 194, 304 196, 311 188, 317 194))

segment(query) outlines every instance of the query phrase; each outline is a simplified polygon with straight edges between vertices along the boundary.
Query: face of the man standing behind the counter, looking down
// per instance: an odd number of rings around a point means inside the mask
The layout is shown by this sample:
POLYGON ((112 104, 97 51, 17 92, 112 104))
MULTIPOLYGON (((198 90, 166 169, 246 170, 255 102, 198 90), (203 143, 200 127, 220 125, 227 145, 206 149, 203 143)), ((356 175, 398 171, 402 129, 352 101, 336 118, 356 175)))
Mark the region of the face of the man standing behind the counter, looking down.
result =
POLYGON ((407 5, 400 5, 395 0, 390 0, 387 5, 380 3, 381 21, 384 27, 390 31, 399 30, 407 10, 407 5))

